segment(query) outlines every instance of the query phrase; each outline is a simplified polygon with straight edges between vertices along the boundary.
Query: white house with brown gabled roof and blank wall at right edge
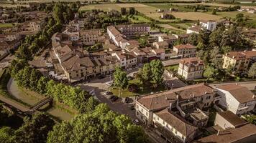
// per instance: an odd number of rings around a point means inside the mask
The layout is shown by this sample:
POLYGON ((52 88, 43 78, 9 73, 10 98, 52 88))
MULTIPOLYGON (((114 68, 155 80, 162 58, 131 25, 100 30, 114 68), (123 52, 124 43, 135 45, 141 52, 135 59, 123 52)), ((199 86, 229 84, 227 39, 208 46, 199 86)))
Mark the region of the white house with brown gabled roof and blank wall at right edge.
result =
POLYGON ((241 115, 255 108, 255 95, 247 89, 236 84, 226 84, 216 87, 221 96, 219 105, 234 114, 241 115))

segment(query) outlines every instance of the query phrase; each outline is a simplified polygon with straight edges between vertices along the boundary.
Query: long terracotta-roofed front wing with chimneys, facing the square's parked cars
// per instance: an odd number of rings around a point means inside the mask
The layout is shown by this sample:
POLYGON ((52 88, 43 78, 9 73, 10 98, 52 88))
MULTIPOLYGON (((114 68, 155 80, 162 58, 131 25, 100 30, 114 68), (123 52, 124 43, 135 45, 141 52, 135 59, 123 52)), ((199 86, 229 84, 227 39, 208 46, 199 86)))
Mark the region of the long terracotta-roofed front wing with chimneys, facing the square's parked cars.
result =
MULTIPOLYGON (((209 107, 216 102, 216 93, 206 84, 194 84, 178 89, 137 97, 135 109, 138 119, 145 124, 152 124, 152 114, 162 109, 183 107, 191 101, 191 104, 200 104, 200 108, 209 107), (178 104, 177 104, 178 103, 178 104)), ((218 97, 219 99, 219 97, 218 97)), ((186 113, 184 113, 186 114, 186 113)))

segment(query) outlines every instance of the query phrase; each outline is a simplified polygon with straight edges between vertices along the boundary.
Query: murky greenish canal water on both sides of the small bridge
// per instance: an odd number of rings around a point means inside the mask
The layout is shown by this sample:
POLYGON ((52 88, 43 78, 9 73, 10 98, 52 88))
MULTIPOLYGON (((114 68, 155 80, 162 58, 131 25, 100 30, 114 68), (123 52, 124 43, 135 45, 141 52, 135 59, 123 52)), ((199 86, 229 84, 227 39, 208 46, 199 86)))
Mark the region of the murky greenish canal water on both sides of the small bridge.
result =
MULTIPOLYGON (((7 84, 7 88, 9 91, 9 94, 11 94, 13 97, 22 100, 22 102, 27 103, 29 105, 34 105, 37 102, 40 102, 40 98, 36 97, 36 95, 28 95, 26 93, 24 93, 22 91, 22 89, 20 89, 17 85, 17 82, 14 81, 14 79, 10 79, 8 84, 7 84)), ((33 93, 33 92, 31 92, 33 93)), ((44 108, 44 107, 42 107, 44 108)), ((58 119, 61 120, 70 120, 71 118, 73 118, 73 114, 70 114, 68 112, 66 112, 65 110, 56 108, 56 107, 52 107, 50 109, 47 110, 48 114, 51 114, 53 117, 57 117, 58 119)))

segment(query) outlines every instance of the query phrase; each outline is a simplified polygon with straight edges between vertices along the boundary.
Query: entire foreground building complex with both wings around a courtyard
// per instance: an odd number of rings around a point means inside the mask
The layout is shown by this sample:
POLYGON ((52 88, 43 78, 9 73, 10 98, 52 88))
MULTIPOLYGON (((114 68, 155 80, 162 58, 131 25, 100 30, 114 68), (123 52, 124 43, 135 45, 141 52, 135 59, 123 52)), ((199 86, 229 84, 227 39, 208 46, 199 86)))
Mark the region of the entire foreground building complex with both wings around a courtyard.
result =
MULTIPOLYGON (((169 137, 178 137, 181 142, 188 142, 194 136, 184 133, 184 130, 181 132, 180 128, 175 125, 175 120, 180 122, 178 124, 180 126, 186 124, 186 127, 187 125, 204 127, 209 117, 201 109, 211 106, 217 100, 219 97, 216 96, 213 88, 206 84, 195 84, 168 92, 137 97, 136 116, 147 125, 155 125, 157 129, 167 130, 169 137), (191 122, 188 123, 185 120, 191 122)), ((196 128, 192 130, 194 133, 196 128)), ((164 133, 162 135, 169 139, 168 135, 164 133)))

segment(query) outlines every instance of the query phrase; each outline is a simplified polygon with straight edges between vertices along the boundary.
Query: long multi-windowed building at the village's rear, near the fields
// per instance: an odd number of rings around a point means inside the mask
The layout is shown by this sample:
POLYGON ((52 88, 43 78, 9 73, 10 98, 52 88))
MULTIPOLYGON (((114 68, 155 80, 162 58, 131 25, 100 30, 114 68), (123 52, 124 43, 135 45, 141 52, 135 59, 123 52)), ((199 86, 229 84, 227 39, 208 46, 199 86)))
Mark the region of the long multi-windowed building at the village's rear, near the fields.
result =
POLYGON ((137 36, 150 33, 149 24, 118 25, 116 26, 116 29, 118 29, 125 36, 137 36))

